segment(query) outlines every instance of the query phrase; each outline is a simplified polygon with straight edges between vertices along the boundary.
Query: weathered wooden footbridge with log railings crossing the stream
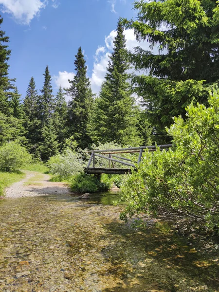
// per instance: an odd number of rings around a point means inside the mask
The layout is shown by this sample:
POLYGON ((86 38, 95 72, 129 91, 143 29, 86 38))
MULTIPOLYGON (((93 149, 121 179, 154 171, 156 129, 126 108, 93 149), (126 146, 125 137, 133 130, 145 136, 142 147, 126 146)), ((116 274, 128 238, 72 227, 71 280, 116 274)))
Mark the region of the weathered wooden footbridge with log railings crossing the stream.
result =
MULTIPOLYGON (((145 151, 153 152, 159 147, 161 150, 172 147, 172 144, 159 145, 159 146, 142 146, 142 147, 130 147, 122 149, 108 149, 108 150, 90 150, 87 153, 91 153, 91 158, 88 162, 88 166, 85 168, 87 174, 127 174, 131 173, 131 167, 136 168, 136 164, 139 164, 142 160, 142 153, 145 151), (134 161, 130 158, 118 156, 118 154, 126 153, 139 153, 138 161, 134 161), (95 158, 102 158, 109 161, 109 167, 95 167, 95 158), (92 163, 92 167, 91 167, 92 163), (128 168, 116 168, 115 163, 128 166, 128 168), (112 166, 112 167, 111 167, 112 166)), ((136 159, 136 157, 133 157, 136 159)), ((123 166, 124 167, 124 166, 123 166)))

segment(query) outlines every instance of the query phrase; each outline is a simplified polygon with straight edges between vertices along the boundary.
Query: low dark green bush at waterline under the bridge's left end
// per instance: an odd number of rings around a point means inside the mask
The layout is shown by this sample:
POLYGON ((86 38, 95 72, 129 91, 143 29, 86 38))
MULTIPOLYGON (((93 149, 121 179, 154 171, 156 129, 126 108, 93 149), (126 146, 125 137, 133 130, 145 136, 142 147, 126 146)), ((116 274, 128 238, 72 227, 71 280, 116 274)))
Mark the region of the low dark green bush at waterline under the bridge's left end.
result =
POLYGON ((110 183, 99 182, 97 177, 92 174, 88 175, 85 173, 80 173, 73 177, 71 189, 73 192, 95 193, 109 190, 110 183))

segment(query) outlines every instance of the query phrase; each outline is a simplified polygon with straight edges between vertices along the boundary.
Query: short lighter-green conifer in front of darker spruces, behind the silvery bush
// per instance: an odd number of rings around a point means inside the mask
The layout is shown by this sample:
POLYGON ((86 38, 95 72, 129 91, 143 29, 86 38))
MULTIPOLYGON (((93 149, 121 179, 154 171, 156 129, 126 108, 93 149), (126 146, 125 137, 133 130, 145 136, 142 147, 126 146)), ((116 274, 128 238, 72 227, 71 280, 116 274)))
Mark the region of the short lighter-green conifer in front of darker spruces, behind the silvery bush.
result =
POLYGON ((51 156, 58 153, 59 144, 53 120, 49 119, 47 125, 42 129, 42 142, 39 146, 40 156, 43 161, 47 161, 51 156))

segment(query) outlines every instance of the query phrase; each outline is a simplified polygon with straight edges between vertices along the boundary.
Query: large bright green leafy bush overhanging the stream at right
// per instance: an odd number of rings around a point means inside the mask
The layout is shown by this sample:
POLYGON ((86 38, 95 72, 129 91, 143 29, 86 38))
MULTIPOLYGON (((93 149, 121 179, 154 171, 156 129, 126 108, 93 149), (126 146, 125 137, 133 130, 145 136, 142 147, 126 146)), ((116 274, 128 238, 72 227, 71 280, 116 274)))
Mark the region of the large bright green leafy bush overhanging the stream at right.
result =
POLYGON ((174 118, 167 129, 175 147, 169 151, 145 153, 138 172, 128 177, 123 200, 129 201, 121 214, 141 212, 190 219, 207 226, 219 226, 219 94, 210 106, 191 104, 188 119, 174 118))

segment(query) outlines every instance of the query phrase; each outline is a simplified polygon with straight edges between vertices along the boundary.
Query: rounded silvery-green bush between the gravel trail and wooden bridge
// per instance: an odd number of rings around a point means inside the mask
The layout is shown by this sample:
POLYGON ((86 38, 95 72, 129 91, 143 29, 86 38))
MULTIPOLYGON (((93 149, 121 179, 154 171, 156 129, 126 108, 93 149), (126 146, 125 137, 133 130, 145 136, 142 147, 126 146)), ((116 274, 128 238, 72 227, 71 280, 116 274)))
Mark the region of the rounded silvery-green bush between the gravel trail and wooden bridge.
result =
POLYGON ((70 178, 85 167, 80 154, 70 148, 65 149, 62 154, 50 157, 47 165, 52 174, 63 179, 70 178))

